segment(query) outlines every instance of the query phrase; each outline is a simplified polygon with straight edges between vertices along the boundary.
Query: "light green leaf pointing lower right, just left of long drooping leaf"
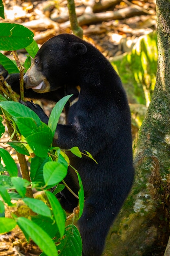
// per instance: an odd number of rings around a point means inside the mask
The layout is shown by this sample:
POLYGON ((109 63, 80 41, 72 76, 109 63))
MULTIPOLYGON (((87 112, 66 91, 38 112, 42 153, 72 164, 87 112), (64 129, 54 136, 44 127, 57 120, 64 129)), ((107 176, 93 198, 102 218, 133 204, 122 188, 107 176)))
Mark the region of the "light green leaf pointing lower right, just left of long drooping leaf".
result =
POLYGON ((34 198, 23 198, 22 200, 35 213, 52 218, 49 207, 41 200, 34 198))

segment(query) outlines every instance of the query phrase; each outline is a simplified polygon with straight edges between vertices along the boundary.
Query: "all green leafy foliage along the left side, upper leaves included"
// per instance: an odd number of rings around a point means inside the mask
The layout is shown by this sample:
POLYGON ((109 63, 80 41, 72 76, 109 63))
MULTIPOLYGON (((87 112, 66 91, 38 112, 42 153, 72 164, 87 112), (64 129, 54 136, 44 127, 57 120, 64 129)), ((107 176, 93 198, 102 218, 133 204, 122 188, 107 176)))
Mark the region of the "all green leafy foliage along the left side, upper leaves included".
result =
MULTIPOLYGON (((1 17, 2 14, 3 10, 0 8, 1 17)), ((24 64, 28 68, 31 64, 30 56, 34 57, 38 50, 38 45, 33 40, 33 33, 22 25, 1 23, 0 49, 16 50, 20 48, 26 48, 30 54, 24 64)), ((0 64, 9 73, 18 72, 13 61, 2 54, 0 54, 0 64)), ((18 177, 17 165, 7 150, 0 149, 0 195, 2 198, 0 200, 0 233, 9 232, 18 225, 23 231, 26 241, 29 242, 32 239, 40 247, 43 251, 41 255, 81 256, 82 240, 79 231, 73 223, 65 227, 66 214, 55 197, 55 194, 64 188, 64 185, 59 183, 66 176, 70 163, 66 155, 68 150, 53 147, 52 142, 60 113, 71 95, 64 97, 55 105, 47 126, 32 110, 18 102, 11 101, 7 97, 8 94, 3 93, 9 88, 9 85, 5 86, 6 82, 1 79, 0 108, 6 122, 13 130, 11 132, 12 141, 9 141, 8 144, 18 152, 18 155, 29 156, 31 154, 34 156, 30 157, 30 175, 27 173, 29 179, 26 180, 18 177), (56 186, 56 189, 52 193, 53 186, 56 186), (46 200, 29 198, 28 191, 30 189, 42 191, 46 200), (22 201, 28 207, 28 216, 18 215, 16 212, 14 214, 13 207, 16 207, 17 201, 22 201), (5 205, 7 207, 4 207, 5 205), (12 218, 4 217, 6 208, 12 218), (72 250, 70 244, 73 245, 72 250)), ((1 135, 4 131, 1 118, 1 135)), ((88 152, 81 153, 77 147, 71 148, 69 151, 77 157, 86 155, 93 159, 88 152)), ((75 170, 73 166, 70 165, 70 167, 75 170)), ((84 191, 79 173, 76 170, 75 173, 79 181, 80 218, 84 206, 84 191)))

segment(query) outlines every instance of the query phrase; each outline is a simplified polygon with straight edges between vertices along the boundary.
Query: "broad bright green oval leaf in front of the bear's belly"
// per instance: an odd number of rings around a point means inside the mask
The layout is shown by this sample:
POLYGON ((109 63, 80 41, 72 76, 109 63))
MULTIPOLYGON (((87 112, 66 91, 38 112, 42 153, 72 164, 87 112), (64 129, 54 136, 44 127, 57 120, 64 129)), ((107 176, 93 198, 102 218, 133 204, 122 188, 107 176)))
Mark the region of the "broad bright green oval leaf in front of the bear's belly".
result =
POLYGON ((56 185, 61 182, 67 174, 67 163, 47 162, 44 164, 43 176, 46 186, 56 185))

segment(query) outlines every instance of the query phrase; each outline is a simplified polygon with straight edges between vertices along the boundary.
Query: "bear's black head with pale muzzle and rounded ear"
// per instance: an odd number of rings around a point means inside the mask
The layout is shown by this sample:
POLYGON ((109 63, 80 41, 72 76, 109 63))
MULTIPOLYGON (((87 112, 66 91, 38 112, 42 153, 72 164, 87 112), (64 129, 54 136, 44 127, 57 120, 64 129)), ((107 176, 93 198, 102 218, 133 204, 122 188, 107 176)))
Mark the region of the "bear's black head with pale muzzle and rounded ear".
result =
POLYGON ((46 41, 24 75, 25 88, 44 93, 66 84, 77 86, 80 62, 86 62, 87 45, 71 34, 61 34, 46 41))

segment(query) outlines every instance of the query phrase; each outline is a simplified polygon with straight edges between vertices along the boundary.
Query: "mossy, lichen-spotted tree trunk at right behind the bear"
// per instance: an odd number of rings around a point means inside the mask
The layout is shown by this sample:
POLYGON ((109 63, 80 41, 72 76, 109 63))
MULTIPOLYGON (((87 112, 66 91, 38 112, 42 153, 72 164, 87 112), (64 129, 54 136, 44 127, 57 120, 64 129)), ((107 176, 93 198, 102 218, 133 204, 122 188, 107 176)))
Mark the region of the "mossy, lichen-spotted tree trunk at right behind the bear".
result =
POLYGON ((134 143, 135 181, 104 256, 163 256, 170 235, 170 1, 157 0, 158 69, 134 143))

